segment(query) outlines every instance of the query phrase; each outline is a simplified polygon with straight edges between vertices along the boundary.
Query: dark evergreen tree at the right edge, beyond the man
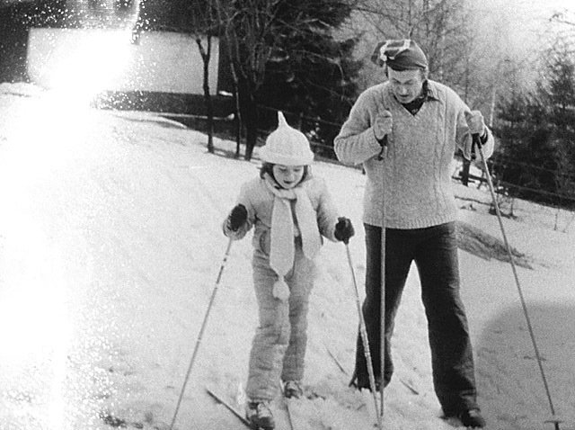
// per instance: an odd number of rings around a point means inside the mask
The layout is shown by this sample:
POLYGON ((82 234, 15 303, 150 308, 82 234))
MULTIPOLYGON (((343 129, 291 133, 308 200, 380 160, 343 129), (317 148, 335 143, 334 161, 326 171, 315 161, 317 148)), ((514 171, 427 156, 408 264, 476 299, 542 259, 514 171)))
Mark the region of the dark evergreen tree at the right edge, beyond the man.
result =
POLYGON ((500 99, 495 169, 509 184, 533 190, 517 188, 517 195, 556 202, 553 194, 572 195, 575 181, 575 64, 564 46, 548 49, 543 59, 534 90, 500 99))

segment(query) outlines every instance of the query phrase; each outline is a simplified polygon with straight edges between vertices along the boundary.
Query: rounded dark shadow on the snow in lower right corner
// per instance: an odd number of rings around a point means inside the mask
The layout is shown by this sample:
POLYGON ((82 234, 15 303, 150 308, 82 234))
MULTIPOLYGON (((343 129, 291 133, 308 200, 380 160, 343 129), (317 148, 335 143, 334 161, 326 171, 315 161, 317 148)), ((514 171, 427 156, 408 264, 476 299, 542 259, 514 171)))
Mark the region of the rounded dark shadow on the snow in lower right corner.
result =
MULTIPOLYGON (((542 285, 542 289, 553 285, 542 285)), ((527 313, 562 430, 575 429, 575 305, 528 303, 527 313)), ((553 429, 543 376, 523 308, 507 309, 485 327, 475 345, 480 404, 498 430, 553 429)), ((491 428, 491 427, 490 427, 491 428)))

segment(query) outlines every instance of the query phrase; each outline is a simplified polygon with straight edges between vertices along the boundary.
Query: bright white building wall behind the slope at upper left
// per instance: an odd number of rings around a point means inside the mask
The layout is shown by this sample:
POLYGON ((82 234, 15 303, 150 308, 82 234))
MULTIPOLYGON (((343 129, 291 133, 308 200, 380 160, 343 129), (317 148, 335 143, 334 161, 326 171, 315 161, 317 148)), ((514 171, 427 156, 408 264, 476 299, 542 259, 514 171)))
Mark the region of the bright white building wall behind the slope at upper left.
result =
MULTIPOLYGON (((33 28, 27 57, 31 82, 47 88, 85 80, 100 91, 203 94, 203 62, 185 34, 145 31, 132 44, 129 31, 33 28)), ((212 38, 211 94, 217 92, 218 57, 212 38)))

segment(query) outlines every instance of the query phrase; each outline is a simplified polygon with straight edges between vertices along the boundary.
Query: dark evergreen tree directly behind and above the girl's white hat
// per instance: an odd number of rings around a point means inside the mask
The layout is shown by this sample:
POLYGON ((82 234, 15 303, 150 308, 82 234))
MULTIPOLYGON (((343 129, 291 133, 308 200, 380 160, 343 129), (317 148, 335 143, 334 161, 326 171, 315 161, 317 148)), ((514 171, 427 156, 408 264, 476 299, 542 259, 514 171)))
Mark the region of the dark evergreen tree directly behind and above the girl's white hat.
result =
MULTIPOLYGON (((325 8, 309 12, 318 13, 318 21, 302 25, 298 31, 289 26, 283 29, 280 49, 285 55, 269 62, 259 101, 294 113, 301 130, 332 146, 357 95, 355 76, 362 62, 353 58, 356 40, 336 40, 332 31, 349 15, 349 7, 339 6, 328 15, 325 12, 325 8)), ((286 10, 279 16, 290 14, 286 10)), ((273 114, 262 120, 265 127, 275 126, 277 121, 273 114)))

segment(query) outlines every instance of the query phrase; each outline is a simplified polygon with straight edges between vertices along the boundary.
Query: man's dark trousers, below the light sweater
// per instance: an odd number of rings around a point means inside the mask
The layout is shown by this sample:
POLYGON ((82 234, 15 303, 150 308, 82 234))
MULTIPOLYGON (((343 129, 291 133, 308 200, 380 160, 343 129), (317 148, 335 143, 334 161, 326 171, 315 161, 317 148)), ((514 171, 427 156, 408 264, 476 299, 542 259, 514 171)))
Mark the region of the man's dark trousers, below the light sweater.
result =
MULTIPOLYGON (((376 380, 381 381, 381 228, 366 229, 366 319, 369 350, 376 380)), ((463 302, 459 296, 456 226, 454 222, 430 228, 385 229, 385 385, 394 364, 391 339, 394 318, 411 262, 421 280, 421 300, 428 319, 433 383, 447 416, 477 408, 473 352, 463 302)), ((366 358, 358 336, 356 349, 358 388, 369 388, 366 358)))

